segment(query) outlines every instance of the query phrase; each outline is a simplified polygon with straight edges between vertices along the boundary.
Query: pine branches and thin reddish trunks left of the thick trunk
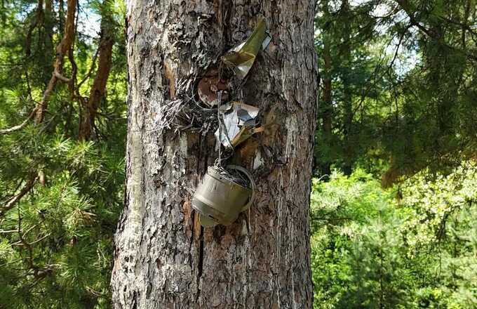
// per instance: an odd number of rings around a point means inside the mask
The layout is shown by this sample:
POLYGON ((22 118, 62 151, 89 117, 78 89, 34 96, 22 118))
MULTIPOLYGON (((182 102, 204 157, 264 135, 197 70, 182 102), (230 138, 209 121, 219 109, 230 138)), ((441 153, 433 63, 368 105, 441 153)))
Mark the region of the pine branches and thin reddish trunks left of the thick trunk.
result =
POLYGON ((109 307, 123 201, 121 10, 112 1, 4 2, 0 308, 109 307), (98 37, 86 31, 88 15, 101 20, 98 37))

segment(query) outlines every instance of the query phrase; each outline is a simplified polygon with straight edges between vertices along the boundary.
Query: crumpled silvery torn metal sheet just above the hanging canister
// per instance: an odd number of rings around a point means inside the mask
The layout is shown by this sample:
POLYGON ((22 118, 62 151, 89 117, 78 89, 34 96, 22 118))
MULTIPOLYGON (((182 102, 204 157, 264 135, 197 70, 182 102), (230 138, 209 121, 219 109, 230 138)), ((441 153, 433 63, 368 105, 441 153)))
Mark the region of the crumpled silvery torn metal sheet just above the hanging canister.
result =
POLYGON ((262 131, 255 128, 257 125, 258 107, 245 103, 231 102, 222 105, 219 109, 220 124, 215 131, 215 138, 224 147, 233 148, 252 136, 262 131))

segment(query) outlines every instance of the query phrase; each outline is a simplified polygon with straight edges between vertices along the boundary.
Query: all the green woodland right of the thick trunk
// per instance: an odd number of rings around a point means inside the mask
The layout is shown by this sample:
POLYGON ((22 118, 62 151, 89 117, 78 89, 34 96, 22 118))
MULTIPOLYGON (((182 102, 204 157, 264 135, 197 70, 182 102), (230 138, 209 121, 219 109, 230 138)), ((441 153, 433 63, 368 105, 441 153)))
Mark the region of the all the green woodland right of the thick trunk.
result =
POLYGON ((476 307, 475 1, 319 5, 315 308, 476 307))

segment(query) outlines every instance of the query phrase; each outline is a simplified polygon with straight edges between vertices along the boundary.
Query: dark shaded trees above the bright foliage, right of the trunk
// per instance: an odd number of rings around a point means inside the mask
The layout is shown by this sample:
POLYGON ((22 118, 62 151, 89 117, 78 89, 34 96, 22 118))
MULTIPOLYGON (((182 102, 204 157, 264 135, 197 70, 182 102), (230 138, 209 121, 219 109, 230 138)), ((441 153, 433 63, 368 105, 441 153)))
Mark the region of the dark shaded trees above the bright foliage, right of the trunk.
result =
POLYGON ((320 4, 328 9, 317 16, 325 68, 318 174, 362 166, 389 186, 475 155, 474 1, 320 4))

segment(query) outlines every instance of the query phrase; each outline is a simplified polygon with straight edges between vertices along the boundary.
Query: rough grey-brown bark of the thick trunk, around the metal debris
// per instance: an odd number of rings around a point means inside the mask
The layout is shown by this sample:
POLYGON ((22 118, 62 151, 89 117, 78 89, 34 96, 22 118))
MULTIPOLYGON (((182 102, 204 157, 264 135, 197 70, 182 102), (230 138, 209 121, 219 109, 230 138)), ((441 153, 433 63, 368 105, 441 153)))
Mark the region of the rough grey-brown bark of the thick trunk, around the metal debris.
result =
POLYGON ((126 207, 114 308, 311 308, 314 2, 128 1, 126 207), (203 74, 259 16, 272 41, 248 74, 243 101, 260 107, 267 130, 233 159, 253 171, 258 196, 234 224, 204 229, 191 199, 217 157, 213 131, 176 134, 154 118, 178 81, 203 74))

